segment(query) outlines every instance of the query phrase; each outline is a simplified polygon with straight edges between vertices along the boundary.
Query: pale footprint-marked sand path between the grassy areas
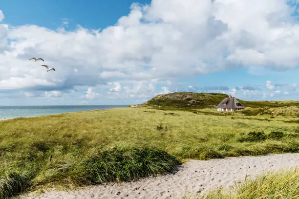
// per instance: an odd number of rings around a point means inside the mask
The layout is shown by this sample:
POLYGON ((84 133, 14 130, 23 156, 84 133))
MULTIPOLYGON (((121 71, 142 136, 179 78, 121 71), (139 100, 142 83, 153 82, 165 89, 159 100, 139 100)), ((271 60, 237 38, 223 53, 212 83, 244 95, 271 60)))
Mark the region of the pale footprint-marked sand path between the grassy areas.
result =
POLYGON ((48 191, 42 195, 30 193, 28 199, 181 199, 186 194, 204 193, 219 186, 227 187, 235 180, 243 180, 279 168, 299 164, 299 154, 277 154, 258 157, 238 157, 191 160, 176 174, 150 177, 135 182, 89 186, 72 191, 48 191), (34 197, 35 196, 35 197, 34 197))

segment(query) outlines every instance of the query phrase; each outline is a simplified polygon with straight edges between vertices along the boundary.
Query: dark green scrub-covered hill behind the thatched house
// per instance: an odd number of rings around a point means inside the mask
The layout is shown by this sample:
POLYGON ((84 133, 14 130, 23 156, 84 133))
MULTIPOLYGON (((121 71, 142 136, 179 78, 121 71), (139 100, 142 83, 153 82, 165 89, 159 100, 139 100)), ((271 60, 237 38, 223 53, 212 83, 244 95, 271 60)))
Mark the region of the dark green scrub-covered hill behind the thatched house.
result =
MULTIPOLYGON (((145 106, 163 106, 176 108, 205 108, 217 106, 221 100, 229 97, 221 93, 192 93, 192 92, 176 92, 164 95, 157 95, 151 100, 143 103, 145 106)), ((299 101, 245 101, 240 100, 245 107, 251 108, 274 108, 282 106, 299 106, 299 101)))

